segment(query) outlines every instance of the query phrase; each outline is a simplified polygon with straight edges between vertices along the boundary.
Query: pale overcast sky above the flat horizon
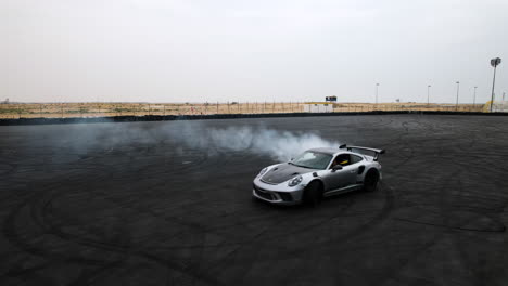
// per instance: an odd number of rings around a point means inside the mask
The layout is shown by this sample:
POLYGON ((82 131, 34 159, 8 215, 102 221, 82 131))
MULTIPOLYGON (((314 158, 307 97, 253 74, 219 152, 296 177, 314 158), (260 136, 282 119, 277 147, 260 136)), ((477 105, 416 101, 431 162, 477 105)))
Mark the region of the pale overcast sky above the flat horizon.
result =
POLYGON ((0 100, 485 102, 507 29, 507 0, 0 0, 0 100))

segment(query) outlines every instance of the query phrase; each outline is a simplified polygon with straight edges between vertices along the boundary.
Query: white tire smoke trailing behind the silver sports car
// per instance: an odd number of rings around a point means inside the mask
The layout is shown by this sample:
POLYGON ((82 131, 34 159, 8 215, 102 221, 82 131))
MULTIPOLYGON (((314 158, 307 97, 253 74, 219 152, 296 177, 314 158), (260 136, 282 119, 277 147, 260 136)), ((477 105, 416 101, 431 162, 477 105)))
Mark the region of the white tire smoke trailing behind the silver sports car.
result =
POLYGON ((126 146, 156 147, 175 144, 175 151, 190 147, 209 156, 225 152, 247 152, 287 161, 300 153, 316 147, 338 147, 339 142, 322 139, 315 132, 291 132, 263 126, 209 127, 201 121, 129 122, 73 125, 62 136, 55 138, 64 148, 77 154, 97 150, 112 151, 126 146))

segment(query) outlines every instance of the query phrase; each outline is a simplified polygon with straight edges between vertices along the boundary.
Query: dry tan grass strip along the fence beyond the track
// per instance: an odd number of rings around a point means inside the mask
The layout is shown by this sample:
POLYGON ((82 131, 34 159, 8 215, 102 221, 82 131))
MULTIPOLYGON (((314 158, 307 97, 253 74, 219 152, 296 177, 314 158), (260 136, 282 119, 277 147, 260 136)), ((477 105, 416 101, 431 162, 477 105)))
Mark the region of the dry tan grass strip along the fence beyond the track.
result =
MULTIPOLYGON (((482 112, 483 104, 334 103, 333 112, 459 110, 482 112)), ((0 104, 0 118, 109 117, 144 115, 209 115, 300 113, 303 103, 11 103, 0 104)))

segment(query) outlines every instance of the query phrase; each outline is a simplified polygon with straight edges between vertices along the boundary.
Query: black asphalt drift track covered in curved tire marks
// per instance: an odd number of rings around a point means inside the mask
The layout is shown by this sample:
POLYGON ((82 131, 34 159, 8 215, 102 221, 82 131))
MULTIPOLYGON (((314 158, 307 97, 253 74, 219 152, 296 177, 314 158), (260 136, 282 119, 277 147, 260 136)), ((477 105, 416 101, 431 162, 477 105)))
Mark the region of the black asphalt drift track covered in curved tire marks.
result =
POLYGON ((507 146, 504 116, 0 127, 0 285, 508 285, 507 146), (269 206, 270 156, 174 136, 259 125, 385 148, 378 191, 269 206))

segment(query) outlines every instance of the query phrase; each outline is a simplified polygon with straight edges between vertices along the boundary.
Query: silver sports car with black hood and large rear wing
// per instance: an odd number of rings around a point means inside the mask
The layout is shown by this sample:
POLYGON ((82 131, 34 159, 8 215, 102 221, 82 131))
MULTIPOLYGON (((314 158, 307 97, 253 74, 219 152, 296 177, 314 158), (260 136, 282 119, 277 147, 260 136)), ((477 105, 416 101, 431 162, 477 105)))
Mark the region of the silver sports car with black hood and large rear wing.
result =
POLYGON ((252 195, 278 205, 317 205, 327 196, 356 190, 372 192, 381 180, 380 154, 384 150, 346 145, 312 148, 288 162, 261 170, 252 195))

